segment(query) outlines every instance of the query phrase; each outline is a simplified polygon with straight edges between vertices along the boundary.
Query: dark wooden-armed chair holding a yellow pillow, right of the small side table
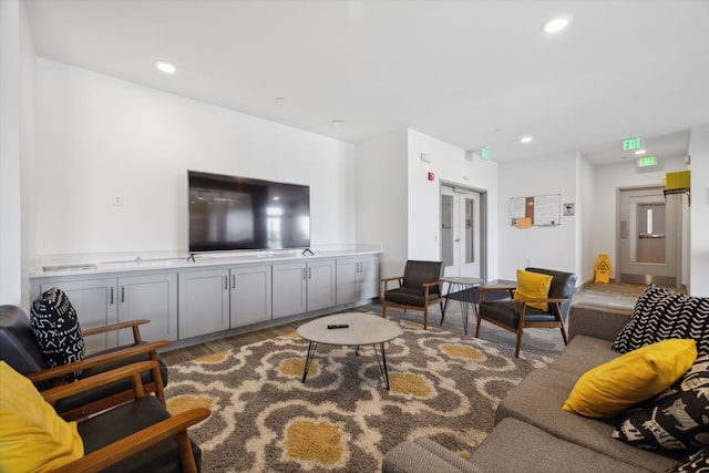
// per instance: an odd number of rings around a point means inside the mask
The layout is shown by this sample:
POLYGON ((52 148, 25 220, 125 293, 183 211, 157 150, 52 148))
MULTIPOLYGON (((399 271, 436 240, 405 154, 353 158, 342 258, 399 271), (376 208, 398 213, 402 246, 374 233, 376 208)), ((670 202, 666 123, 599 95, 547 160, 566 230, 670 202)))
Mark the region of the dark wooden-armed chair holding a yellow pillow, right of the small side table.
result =
POLYGON ((505 330, 516 332, 514 356, 520 357, 520 343, 525 328, 556 328, 562 331, 564 345, 568 345, 564 322, 568 315, 568 307, 576 288, 576 275, 572 273, 555 271, 542 268, 525 268, 530 273, 538 273, 552 276, 548 297, 544 299, 522 299, 486 301, 485 294, 493 290, 505 290, 514 297, 514 286, 477 287, 481 291, 480 307, 477 310, 477 323, 475 337, 480 336, 480 325, 483 320, 496 325, 505 330), (548 311, 528 306, 530 302, 547 302, 548 311))

